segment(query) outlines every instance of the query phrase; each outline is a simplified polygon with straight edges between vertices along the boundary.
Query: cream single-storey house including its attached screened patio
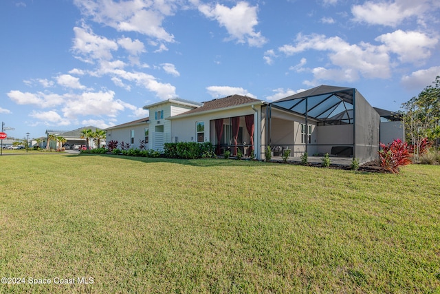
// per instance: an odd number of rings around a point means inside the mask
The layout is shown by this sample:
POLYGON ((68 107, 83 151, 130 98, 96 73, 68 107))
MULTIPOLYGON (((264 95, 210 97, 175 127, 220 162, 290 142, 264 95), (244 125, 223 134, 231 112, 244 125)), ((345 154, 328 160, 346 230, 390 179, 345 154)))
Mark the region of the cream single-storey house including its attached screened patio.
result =
POLYGON ((232 95, 205 103, 175 98, 144 106, 149 118, 110 127, 107 140, 129 142, 147 149, 162 150, 164 143, 211 142, 216 153, 237 149, 258 159, 271 146, 274 156, 285 149, 291 156, 329 153, 359 158, 377 157, 379 143, 404 138, 398 116, 374 109, 354 88, 321 85, 266 103, 232 95))

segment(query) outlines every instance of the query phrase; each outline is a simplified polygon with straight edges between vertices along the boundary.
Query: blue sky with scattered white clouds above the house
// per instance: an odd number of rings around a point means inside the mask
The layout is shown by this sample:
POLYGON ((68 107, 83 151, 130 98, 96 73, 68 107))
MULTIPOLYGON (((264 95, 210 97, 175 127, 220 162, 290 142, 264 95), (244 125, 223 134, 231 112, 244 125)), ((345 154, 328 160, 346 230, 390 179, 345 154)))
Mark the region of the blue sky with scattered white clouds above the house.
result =
POLYGON ((2 0, 0 118, 37 138, 167 98, 322 84, 398 110, 440 75, 439 15, 438 0, 2 0))

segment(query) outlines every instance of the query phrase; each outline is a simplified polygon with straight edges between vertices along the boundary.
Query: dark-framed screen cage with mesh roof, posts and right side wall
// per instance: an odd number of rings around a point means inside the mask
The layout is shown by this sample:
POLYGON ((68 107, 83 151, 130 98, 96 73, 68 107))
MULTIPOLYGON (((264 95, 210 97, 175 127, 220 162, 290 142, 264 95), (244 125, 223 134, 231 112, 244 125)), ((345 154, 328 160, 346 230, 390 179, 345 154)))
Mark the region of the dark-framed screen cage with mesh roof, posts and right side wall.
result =
MULTIPOLYGON (((308 120, 318 125, 353 125, 353 156, 362 162, 377 157, 380 116, 355 88, 320 85, 270 103, 269 132, 272 107, 304 116, 306 125, 308 120)), ((307 131, 306 127, 306 135, 307 131)), ((306 151, 307 145, 313 144, 306 141, 306 151)))

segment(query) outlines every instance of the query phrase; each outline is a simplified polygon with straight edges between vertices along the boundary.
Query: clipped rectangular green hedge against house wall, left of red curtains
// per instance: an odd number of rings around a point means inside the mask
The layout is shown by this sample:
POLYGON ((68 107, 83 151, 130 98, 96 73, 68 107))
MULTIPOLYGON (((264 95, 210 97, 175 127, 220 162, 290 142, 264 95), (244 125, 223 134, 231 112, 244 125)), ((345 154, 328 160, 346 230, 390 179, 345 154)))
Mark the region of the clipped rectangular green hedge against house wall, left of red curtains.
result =
POLYGON ((212 155, 211 157, 214 157, 214 147, 212 147, 212 143, 210 142, 178 142, 164 144, 164 156, 166 158, 206 158, 209 154, 212 155))

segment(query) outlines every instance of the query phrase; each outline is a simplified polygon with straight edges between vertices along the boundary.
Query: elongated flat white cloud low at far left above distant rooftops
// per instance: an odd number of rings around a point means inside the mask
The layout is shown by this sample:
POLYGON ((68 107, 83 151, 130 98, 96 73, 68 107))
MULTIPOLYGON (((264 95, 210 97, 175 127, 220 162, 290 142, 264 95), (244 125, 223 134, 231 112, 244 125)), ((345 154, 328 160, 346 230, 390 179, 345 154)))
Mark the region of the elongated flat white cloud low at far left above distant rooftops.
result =
POLYGON ((37 105, 39 107, 53 107, 56 105, 61 105, 63 103, 63 96, 58 94, 47 94, 43 92, 30 93, 30 92, 21 92, 18 90, 12 90, 8 92, 6 95, 19 105, 37 105))

